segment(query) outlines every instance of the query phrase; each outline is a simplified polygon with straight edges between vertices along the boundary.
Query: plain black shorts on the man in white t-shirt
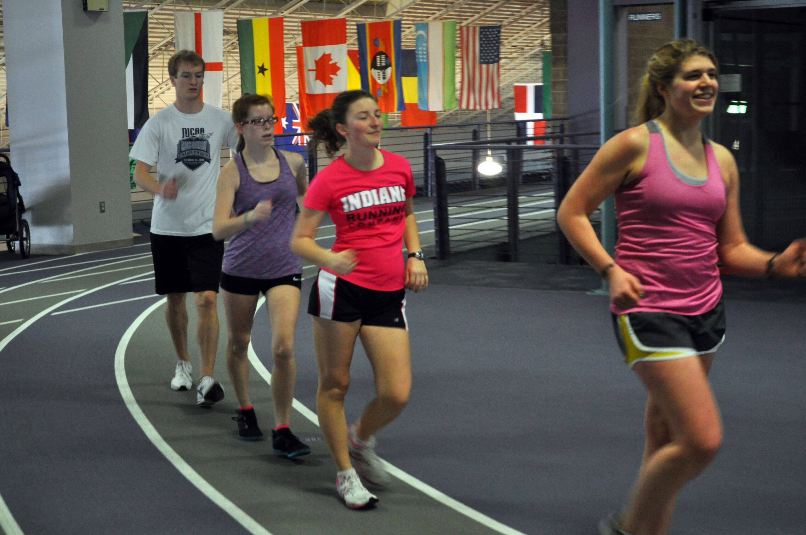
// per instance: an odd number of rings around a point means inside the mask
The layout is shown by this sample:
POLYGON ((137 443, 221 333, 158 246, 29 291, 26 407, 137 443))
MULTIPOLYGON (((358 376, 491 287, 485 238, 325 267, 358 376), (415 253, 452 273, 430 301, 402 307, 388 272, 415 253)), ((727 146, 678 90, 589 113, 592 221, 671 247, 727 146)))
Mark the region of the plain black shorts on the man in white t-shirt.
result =
POLYGON ((224 242, 213 234, 166 236, 151 234, 154 284, 166 293, 218 292, 224 242))

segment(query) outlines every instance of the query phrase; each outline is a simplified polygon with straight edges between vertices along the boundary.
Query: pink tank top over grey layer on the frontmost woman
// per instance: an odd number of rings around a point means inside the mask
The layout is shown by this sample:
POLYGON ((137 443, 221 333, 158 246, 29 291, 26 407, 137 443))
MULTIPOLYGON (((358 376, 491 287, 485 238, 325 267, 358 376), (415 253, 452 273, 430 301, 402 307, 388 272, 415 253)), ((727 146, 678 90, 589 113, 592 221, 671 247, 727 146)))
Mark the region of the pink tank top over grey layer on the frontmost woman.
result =
POLYGON ((725 212, 725 182, 711 143, 705 143, 708 177, 694 178, 671 163, 658 124, 646 126, 646 165, 615 193, 616 263, 638 277, 646 295, 628 312, 705 313, 722 297, 717 222, 725 212))

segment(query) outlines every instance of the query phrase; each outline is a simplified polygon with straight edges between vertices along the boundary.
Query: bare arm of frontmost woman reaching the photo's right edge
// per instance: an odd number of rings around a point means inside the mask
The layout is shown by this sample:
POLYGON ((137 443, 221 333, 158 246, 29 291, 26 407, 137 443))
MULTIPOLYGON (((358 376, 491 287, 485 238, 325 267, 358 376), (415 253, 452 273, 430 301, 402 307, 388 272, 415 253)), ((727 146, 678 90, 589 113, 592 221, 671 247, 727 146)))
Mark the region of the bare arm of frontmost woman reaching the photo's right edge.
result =
POLYGON ((739 170, 733 155, 721 145, 713 143, 714 152, 725 178, 727 191, 725 214, 717 223, 717 253, 727 271, 743 276, 803 276, 804 242, 792 242, 786 251, 777 255, 762 251, 751 244, 742 226, 742 214, 739 210, 739 170), (771 263, 771 272, 767 273, 767 263, 771 263))

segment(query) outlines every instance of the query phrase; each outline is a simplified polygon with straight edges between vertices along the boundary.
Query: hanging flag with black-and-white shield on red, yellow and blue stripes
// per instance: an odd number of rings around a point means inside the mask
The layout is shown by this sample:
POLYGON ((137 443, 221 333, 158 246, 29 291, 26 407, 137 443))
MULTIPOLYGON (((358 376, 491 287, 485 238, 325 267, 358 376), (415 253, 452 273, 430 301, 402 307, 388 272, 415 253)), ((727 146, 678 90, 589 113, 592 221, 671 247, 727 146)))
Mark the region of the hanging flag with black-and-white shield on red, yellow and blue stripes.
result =
POLYGON ((355 25, 361 89, 376 96, 384 114, 405 110, 400 73, 401 23, 396 19, 355 25))

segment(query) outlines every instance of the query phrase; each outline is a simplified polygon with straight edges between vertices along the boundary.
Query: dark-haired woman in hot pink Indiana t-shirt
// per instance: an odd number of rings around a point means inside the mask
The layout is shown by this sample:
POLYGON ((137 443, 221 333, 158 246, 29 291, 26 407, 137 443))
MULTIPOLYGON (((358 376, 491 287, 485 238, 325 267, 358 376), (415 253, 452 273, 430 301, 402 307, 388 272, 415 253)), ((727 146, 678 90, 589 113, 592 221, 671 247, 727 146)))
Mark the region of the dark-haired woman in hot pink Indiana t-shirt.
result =
POLYGON ((314 144, 324 142, 329 156, 347 147, 311 182, 291 243, 302 259, 322 267, 308 305, 319 367, 317 413, 336 463, 339 495, 349 508, 368 508, 378 499, 359 475, 376 485, 388 480, 373 434, 409 400, 405 288, 418 292, 428 285, 414 218, 414 180, 405 158, 377 148, 384 122, 372 93, 339 93, 330 110, 308 126, 314 144), (314 241, 325 214, 336 227, 330 251, 314 241), (405 262, 403 242, 409 251, 405 262), (348 429, 344 396, 358 337, 372 363, 377 396, 348 429))

